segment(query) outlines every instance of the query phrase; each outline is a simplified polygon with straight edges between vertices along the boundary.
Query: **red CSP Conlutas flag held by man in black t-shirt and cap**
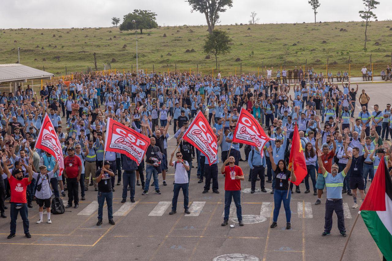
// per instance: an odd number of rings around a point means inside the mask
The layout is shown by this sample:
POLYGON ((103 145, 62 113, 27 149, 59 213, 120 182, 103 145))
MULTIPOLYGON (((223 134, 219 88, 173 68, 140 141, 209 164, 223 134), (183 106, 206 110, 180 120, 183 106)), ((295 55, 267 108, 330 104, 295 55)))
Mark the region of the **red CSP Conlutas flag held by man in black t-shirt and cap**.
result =
POLYGON ((105 151, 125 154, 139 165, 149 145, 149 137, 111 118, 107 119, 105 151))

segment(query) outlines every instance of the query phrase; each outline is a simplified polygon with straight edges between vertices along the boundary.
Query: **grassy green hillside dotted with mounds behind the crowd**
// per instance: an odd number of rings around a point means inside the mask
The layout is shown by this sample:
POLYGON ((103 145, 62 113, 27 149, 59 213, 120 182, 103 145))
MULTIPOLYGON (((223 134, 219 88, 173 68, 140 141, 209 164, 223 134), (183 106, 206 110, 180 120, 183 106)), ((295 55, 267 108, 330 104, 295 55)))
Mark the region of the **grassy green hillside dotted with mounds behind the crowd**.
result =
MULTIPOLYGON (((351 56, 351 75, 359 75, 366 65, 370 69, 370 54, 374 72, 391 62, 392 22, 371 22, 368 27, 368 50, 363 51, 364 24, 362 22, 325 22, 322 24, 260 24, 218 25, 233 39, 231 52, 219 56, 222 74, 257 72, 262 65, 312 66, 318 72, 328 70, 348 71, 351 56), (377 43, 376 43, 377 42, 377 43), (241 61, 236 62, 239 58, 241 61)), ((138 35, 139 68, 157 72, 177 70, 212 73, 214 56, 205 59, 203 43, 206 26, 174 26, 143 30, 138 35), (166 37, 163 37, 163 35, 166 37), (187 52, 187 50, 189 50, 187 52)), ((98 70, 103 64, 120 71, 136 69, 136 34, 118 28, 71 28, 71 29, 7 29, 0 30, 0 63, 15 63, 17 49, 24 65, 53 72, 94 70, 96 53, 98 70)), ((109 69, 109 68, 107 68, 109 69)), ((264 71, 265 72, 265 71, 264 71)))

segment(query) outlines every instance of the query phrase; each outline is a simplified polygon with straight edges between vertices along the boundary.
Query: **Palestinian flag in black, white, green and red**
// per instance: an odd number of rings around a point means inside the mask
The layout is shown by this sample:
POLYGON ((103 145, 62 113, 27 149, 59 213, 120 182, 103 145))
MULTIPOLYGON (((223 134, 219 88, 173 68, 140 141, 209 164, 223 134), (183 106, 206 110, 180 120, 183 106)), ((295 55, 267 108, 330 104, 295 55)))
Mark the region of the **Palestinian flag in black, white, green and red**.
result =
POLYGON ((392 179, 384 157, 359 211, 385 259, 392 260, 392 179))

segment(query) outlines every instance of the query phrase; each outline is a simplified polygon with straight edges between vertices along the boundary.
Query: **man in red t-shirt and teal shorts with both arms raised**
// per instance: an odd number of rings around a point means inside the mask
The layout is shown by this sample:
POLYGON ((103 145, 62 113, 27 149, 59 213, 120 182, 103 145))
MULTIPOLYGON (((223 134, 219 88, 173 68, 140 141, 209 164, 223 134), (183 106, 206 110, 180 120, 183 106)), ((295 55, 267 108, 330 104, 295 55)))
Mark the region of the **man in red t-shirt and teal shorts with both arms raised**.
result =
MULTIPOLYGON (((321 139, 321 133, 318 133, 316 135, 316 152, 319 151, 319 140, 321 139)), ((324 169, 327 170, 327 172, 331 173, 331 167, 332 167, 332 159, 334 159, 335 157, 335 151, 336 151, 336 142, 335 142, 335 137, 334 134, 329 134, 327 136, 327 143, 323 144, 322 147, 322 156, 321 156, 321 160, 323 161, 323 166, 324 169), (329 150, 329 141, 332 141, 332 150, 329 150)), ((317 200, 316 203, 314 203, 314 205, 320 205, 321 203, 321 195, 323 194, 323 190, 325 187, 325 180, 324 180, 324 176, 321 172, 321 167, 319 166, 318 172, 317 172, 317 180, 316 180, 316 188, 317 188, 317 200)))

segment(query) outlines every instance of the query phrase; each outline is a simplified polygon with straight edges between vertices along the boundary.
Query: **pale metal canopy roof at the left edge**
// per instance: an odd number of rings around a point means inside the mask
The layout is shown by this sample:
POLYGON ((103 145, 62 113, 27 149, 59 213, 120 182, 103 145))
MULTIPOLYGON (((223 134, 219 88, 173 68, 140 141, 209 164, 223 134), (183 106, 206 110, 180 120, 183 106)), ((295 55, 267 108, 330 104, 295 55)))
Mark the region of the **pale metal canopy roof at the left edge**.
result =
POLYGON ((53 73, 41 71, 19 63, 0 64, 0 82, 24 81, 27 79, 48 79, 53 73))

